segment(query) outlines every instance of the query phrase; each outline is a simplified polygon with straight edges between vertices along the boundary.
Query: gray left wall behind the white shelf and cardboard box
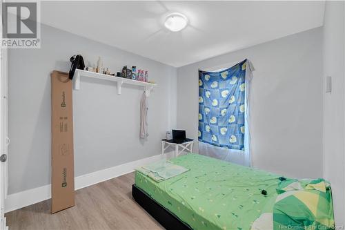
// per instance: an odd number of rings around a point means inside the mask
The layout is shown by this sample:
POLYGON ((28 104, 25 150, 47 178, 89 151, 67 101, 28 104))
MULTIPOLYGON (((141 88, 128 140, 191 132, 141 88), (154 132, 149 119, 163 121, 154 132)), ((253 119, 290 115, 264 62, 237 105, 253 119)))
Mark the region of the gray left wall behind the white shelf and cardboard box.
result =
POLYGON ((117 95, 115 82, 81 78, 81 89, 73 90, 75 176, 157 155, 176 126, 176 68, 42 25, 40 49, 8 52, 9 194, 50 184, 50 73, 68 71, 77 53, 86 65, 101 56, 112 72, 144 68, 158 86, 148 99, 150 136, 142 141, 142 88, 124 85, 117 95))

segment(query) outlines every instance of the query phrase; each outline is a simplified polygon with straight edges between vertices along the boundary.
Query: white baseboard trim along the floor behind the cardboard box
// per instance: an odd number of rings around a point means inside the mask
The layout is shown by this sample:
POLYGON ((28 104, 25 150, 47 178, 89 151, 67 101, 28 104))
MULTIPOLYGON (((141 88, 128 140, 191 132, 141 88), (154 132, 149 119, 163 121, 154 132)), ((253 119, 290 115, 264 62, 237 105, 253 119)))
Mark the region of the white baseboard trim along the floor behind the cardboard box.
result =
MULTIPOLYGON (((130 173, 134 171, 138 166, 149 164, 150 162, 155 162, 161 160, 165 157, 170 158, 173 156, 173 152, 165 153, 164 155, 154 155, 152 157, 147 157, 141 160, 136 160, 134 162, 128 162, 126 164, 120 164, 108 169, 103 169, 100 171, 95 171, 93 173, 88 173, 85 175, 79 175, 75 178, 75 190, 85 188, 92 184, 97 184, 112 178, 117 178, 120 175, 130 173)), ((27 207, 31 204, 36 204, 43 200, 48 200, 51 198, 50 184, 45 186, 37 187, 34 189, 29 189, 26 191, 21 191, 19 193, 13 193, 7 196, 5 200, 5 212, 14 211, 27 207)))

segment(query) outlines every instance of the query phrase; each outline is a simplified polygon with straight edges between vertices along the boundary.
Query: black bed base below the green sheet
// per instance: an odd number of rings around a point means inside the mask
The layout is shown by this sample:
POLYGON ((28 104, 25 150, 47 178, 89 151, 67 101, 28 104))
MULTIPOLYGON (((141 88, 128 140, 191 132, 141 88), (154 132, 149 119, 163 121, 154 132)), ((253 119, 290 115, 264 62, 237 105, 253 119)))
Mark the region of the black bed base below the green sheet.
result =
POLYGON ((168 230, 191 230, 188 224, 182 222, 177 216, 165 209, 161 204, 150 198, 150 195, 139 189, 135 184, 132 185, 132 197, 145 209, 161 226, 168 230))

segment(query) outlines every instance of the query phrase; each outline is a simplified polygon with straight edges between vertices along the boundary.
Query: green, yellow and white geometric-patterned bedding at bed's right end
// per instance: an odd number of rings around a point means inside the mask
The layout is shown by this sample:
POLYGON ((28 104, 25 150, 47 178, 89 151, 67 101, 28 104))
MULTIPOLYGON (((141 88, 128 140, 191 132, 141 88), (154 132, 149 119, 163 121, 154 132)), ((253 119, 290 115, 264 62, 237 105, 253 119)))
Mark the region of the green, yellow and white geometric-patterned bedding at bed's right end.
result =
POLYGON ((326 180, 286 180, 277 193, 274 229, 334 228, 332 192, 326 180))

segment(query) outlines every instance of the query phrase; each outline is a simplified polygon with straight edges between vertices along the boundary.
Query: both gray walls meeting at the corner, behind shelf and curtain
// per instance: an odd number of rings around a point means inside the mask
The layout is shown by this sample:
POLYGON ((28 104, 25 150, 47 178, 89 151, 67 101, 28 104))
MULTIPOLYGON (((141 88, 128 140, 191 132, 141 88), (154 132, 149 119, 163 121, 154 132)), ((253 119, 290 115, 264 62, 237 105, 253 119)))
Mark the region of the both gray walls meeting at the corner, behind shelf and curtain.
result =
POLYGON ((101 56, 112 71, 146 68, 159 85, 149 98, 150 136, 142 142, 141 88, 124 86, 117 95, 115 83, 81 79, 81 90, 73 91, 76 176, 159 154, 159 140, 175 126, 197 139, 197 69, 245 58, 256 68, 250 101, 254 166, 297 178, 322 176, 321 28, 178 69, 49 26, 41 34, 41 49, 8 55, 10 194, 50 184, 50 72, 67 71, 76 53, 87 65, 101 56))

